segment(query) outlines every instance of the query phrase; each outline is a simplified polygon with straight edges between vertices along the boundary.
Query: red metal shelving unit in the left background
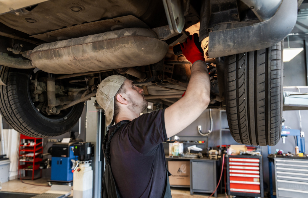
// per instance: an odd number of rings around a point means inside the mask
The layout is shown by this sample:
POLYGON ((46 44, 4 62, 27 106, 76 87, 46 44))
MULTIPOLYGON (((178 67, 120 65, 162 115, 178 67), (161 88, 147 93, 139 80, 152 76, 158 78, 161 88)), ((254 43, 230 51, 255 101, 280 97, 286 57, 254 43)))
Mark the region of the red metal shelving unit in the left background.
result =
POLYGON ((28 137, 20 135, 19 141, 19 161, 18 161, 18 179, 35 180, 42 177, 42 169, 39 168, 39 162, 42 161, 38 156, 43 154, 43 138, 28 137), (33 145, 28 144, 33 142, 33 145), (24 145, 24 143, 27 143, 24 145), (25 176, 21 176, 21 172, 25 176))

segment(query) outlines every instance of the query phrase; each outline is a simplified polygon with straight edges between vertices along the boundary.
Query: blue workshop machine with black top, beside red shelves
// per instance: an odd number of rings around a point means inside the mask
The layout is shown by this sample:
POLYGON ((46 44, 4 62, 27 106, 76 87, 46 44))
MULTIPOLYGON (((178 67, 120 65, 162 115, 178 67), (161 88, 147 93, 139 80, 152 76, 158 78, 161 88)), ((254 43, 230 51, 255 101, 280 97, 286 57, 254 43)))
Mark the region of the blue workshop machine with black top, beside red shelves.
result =
POLYGON ((80 141, 82 140, 70 143, 57 142, 52 146, 51 181, 71 182, 73 180, 71 160, 77 160, 73 150, 74 144, 80 141))

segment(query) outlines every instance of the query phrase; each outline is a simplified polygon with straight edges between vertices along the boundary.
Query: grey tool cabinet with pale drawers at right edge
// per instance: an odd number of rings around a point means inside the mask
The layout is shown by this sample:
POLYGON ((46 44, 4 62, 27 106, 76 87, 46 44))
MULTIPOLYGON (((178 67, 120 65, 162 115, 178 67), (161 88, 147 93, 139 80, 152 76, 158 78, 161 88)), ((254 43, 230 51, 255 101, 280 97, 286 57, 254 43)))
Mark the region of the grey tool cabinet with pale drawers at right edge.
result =
POLYGON ((306 157, 274 157, 277 198, 308 197, 306 157))

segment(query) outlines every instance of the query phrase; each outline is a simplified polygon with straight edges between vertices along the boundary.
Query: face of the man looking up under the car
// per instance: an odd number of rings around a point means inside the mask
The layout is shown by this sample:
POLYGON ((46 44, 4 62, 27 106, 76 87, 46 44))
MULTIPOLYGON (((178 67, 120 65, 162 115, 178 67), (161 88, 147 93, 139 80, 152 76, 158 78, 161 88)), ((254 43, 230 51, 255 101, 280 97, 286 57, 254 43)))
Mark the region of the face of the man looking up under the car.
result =
POLYGON ((148 107, 148 101, 143 97, 143 89, 136 87, 131 80, 124 81, 125 95, 127 95, 128 108, 140 113, 148 107))

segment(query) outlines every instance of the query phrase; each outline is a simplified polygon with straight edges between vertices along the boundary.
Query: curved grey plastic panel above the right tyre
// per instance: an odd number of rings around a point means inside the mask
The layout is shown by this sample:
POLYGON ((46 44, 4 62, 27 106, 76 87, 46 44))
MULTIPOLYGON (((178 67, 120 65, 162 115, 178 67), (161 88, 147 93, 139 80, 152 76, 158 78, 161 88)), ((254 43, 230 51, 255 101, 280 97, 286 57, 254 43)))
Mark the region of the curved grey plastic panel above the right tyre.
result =
POLYGON ((209 58, 270 47, 285 38, 297 20, 297 1, 283 0, 269 20, 252 26, 209 33, 209 58))

